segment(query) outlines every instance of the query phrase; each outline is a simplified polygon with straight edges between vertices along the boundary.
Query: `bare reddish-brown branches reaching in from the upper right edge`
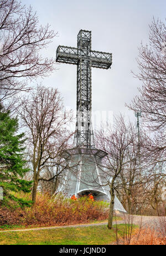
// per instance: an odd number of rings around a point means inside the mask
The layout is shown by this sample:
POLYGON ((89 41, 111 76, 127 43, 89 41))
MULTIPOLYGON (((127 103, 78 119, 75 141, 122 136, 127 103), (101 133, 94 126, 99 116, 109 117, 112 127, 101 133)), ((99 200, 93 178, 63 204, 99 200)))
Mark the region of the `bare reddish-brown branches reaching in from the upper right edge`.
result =
POLYGON ((164 22, 153 18, 149 28, 149 45, 139 48, 137 58, 140 72, 136 77, 143 85, 129 108, 141 110, 144 124, 150 131, 157 131, 153 145, 149 145, 154 152, 166 149, 166 26, 164 22))

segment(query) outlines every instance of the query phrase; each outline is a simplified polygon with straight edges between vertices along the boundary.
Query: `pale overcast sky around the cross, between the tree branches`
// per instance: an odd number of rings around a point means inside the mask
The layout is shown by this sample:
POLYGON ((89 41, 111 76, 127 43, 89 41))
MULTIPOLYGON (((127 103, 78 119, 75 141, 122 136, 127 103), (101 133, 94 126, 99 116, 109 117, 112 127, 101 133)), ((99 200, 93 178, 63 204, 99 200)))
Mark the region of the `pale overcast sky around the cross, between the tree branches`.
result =
MULTIPOLYGON (((138 47, 148 42, 152 18, 164 21, 165 0, 23 0, 37 11, 40 23, 49 23, 58 37, 46 50, 55 56, 59 45, 76 47, 80 29, 92 32, 92 50, 112 53, 111 69, 92 68, 92 109, 113 111, 134 119, 125 107, 141 86, 131 70, 138 72, 138 47)), ((58 70, 43 80, 57 87, 66 107, 76 109, 76 66, 58 64, 58 70)))

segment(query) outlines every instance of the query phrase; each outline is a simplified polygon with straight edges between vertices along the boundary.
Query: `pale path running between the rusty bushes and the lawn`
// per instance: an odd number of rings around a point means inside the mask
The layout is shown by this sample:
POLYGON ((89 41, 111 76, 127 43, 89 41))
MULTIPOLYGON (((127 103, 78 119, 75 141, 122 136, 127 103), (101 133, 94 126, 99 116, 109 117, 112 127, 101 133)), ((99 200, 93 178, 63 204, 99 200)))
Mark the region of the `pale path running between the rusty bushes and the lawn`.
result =
MULTIPOLYGON (((125 215, 122 216, 122 220, 113 221, 113 224, 125 224, 125 223, 133 223, 135 225, 139 225, 142 227, 150 227, 155 228, 161 221, 161 217, 158 216, 139 216, 139 215, 125 215)), ((162 217, 162 219, 164 219, 162 217)), ((163 220, 162 220, 163 221, 163 220)), ((166 223, 166 217, 165 217, 166 223)), ((24 231, 32 231, 32 230, 44 230, 44 229, 58 229, 58 228, 77 228, 77 227, 89 227, 89 226, 98 226, 98 225, 106 225, 107 221, 100 223, 89 223, 89 224, 76 224, 76 225, 65 225, 65 226, 53 226, 53 227, 40 227, 40 228, 27 228, 27 229, 12 229, 12 230, 1 230, 1 232, 24 232, 24 231)))

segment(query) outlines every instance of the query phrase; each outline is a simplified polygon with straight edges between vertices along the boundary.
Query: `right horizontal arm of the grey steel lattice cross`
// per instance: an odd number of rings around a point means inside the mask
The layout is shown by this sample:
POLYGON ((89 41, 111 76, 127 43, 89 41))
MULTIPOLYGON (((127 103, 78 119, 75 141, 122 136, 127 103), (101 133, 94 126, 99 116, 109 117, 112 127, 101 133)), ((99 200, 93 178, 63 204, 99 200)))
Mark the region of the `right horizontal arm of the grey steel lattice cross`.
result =
POLYGON ((112 53, 91 51, 92 67, 108 69, 112 64, 112 53))

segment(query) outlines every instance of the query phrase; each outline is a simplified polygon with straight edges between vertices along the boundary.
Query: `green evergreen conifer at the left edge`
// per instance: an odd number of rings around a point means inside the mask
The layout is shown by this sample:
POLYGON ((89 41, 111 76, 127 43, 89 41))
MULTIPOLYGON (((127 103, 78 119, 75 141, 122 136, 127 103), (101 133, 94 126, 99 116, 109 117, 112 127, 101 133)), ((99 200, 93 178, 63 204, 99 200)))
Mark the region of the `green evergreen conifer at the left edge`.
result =
POLYGON ((32 181, 23 179, 28 169, 24 168, 24 134, 15 135, 18 120, 11 118, 8 112, 0 109, 0 186, 3 188, 1 205, 15 201, 17 205, 30 205, 30 201, 17 198, 11 191, 29 192, 32 181))

